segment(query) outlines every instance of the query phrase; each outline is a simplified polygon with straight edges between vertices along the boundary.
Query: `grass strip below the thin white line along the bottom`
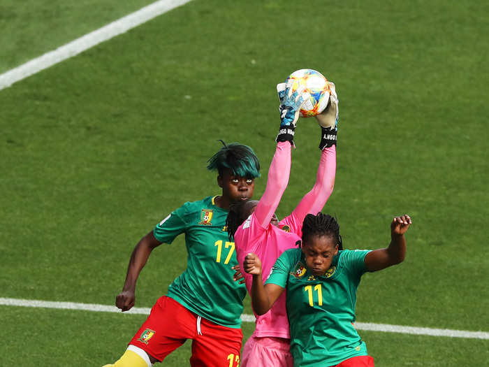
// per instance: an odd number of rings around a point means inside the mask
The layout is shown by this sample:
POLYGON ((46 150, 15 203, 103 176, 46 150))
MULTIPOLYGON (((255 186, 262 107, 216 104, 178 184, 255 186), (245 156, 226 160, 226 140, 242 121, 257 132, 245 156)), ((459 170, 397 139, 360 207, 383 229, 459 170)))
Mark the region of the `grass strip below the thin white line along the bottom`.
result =
MULTIPOLYGON (((2 346, 3 366, 102 366, 120 357, 128 341, 126 336, 132 336, 145 320, 144 315, 105 312, 3 306, 0 310, 2 325, 12 331, 2 346), (29 348, 19 348, 20 344, 29 348)), ((245 336, 249 336, 252 329, 252 324, 244 324, 245 336)), ((375 357, 377 367, 486 366, 489 357, 486 340, 372 331, 360 331, 360 335, 375 357)), ((190 342, 187 341, 162 365, 186 366, 189 357, 190 342)))

